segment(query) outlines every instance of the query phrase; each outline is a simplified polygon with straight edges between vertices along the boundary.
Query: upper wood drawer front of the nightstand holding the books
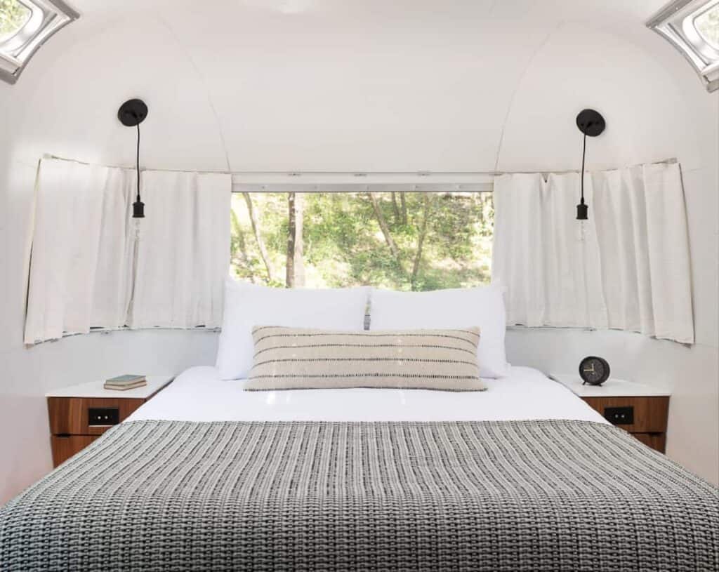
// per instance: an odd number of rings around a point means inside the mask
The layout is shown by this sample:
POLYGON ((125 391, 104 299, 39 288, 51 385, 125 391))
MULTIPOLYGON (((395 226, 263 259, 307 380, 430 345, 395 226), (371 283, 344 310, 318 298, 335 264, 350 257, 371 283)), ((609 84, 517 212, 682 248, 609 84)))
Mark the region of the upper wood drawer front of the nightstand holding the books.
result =
POLYGON ((109 427, 88 423, 88 410, 91 407, 116 408, 122 423, 145 401, 139 398, 48 397, 50 433, 52 435, 102 435, 109 427))

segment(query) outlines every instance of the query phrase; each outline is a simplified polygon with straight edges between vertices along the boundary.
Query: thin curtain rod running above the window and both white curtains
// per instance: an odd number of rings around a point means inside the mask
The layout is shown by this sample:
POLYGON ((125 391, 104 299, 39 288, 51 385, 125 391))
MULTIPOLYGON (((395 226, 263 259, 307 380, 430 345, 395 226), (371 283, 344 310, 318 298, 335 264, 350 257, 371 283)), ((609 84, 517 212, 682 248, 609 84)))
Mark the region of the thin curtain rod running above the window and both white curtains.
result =
MULTIPOLYGON (((43 158, 57 159, 60 161, 70 161, 80 163, 81 165, 98 165, 98 163, 91 163, 86 161, 78 161, 75 159, 68 159, 67 157, 59 157, 53 154, 44 154, 43 158)), ((613 171, 628 167, 638 167, 639 165, 674 165, 678 160, 676 157, 669 159, 663 159, 660 161, 651 161, 645 163, 634 163, 633 165, 624 165, 623 167, 612 167, 610 169, 599 169, 600 171, 613 171)), ((99 165, 101 167, 116 167, 118 169, 132 169, 135 167, 127 165, 99 165)), ((202 172, 202 173, 216 173, 217 175, 232 175, 233 177, 259 177, 262 175, 278 177, 285 176, 288 178, 298 178, 303 176, 338 176, 338 177, 377 177, 377 176, 399 176, 399 177, 498 177, 499 175, 534 175, 536 173, 557 173, 562 175, 564 173, 579 172, 578 169, 570 170, 551 170, 541 169, 533 171, 209 171, 209 170, 192 170, 192 169, 148 169, 145 167, 141 168, 142 171, 160 171, 160 172, 202 172)))

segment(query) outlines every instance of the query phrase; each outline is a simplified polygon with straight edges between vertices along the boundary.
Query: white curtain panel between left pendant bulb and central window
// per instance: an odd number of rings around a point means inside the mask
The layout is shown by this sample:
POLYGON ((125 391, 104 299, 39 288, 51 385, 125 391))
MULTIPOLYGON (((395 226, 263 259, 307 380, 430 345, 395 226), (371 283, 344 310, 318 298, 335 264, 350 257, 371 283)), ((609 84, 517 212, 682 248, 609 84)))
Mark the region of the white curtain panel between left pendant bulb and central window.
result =
POLYGON ((232 178, 148 171, 142 180, 145 219, 129 326, 221 326, 232 178))

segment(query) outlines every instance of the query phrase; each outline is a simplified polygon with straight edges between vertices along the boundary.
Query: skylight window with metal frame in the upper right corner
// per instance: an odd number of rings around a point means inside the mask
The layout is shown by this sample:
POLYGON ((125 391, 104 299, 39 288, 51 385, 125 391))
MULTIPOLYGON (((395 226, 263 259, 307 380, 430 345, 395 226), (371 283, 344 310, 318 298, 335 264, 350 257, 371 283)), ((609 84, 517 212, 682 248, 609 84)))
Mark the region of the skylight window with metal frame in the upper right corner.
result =
POLYGON ((708 91, 719 89, 719 0, 674 0, 646 25, 682 52, 708 91))

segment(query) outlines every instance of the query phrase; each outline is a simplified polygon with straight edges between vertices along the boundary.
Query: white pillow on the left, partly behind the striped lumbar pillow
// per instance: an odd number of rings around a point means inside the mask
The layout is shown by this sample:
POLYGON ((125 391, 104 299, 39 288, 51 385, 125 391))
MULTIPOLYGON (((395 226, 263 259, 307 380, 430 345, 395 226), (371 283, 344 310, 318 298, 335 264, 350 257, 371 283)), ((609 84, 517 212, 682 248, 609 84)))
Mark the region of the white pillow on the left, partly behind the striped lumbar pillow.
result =
POLYGON ((216 363, 221 379, 247 377, 252 369, 253 326, 362 330, 368 296, 367 288, 282 290, 227 278, 216 363))

